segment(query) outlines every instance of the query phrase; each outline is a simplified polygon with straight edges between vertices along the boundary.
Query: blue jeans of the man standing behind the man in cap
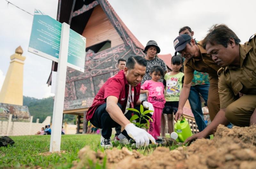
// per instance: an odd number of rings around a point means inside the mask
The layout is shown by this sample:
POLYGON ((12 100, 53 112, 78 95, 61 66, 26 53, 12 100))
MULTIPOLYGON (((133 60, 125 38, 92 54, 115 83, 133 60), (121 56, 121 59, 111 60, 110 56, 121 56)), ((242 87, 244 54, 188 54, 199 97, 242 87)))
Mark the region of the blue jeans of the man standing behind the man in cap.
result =
POLYGON ((199 93, 204 98, 204 101, 207 103, 208 100, 208 91, 209 91, 210 84, 204 85, 195 85, 191 86, 188 101, 192 110, 192 113, 195 117, 196 124, 199 131, 204 130, 206 124, 204 122, 204 115, 201 107, 201 100, 199 93))

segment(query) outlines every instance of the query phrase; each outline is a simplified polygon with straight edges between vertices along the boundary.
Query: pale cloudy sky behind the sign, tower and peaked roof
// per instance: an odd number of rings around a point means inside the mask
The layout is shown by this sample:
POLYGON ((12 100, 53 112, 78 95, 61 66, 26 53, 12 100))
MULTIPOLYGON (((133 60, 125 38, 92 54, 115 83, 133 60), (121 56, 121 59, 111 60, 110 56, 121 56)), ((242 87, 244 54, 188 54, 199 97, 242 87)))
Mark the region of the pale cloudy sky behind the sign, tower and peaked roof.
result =
MULTIPOLYGON (((57 0, 9 0, 20 8, 34 13, 39 9, 56 19, 57 0)), ((190 26, 194 38, 203 39, 213 24, 228 25, 242 43, 256 33, 256 1, 244 0, 109 0, 125 25, 145 46, 154 39, 161 48, 160 54, 174 53, 173 39, 183 26, 190 26)), ((26 56, 24 65, 23 95, 44 98, 51 88, 46 81, 51 71, 51 60, 28 52, 33 16, 19 10, 5 0, 0 1, 0 88, 9 67, 10 55, 18 46, 26 56)))

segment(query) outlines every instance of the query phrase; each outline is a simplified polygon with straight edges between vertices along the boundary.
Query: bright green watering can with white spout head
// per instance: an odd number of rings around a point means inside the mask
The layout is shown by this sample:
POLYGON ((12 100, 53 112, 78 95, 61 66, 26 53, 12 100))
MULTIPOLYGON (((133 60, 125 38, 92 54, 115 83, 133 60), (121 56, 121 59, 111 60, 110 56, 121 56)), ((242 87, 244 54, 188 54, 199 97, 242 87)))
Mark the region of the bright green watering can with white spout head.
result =
POLYGON ((189 123, 183 116, 174 124, 174 131, 171 133, 171 137, 180 143, 184 143, 188 137, 192 136, 189 123))

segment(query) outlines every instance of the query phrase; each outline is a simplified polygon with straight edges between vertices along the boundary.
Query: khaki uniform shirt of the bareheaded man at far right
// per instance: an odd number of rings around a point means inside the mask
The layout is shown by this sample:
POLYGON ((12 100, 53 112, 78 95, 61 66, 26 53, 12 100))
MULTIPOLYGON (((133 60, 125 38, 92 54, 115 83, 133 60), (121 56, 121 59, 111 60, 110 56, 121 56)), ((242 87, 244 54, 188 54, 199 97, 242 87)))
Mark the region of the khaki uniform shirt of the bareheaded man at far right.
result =
POLYGON ((240 67, 228 66, 218 72, 220 108, 239 98, 238 92, 256 99, 256 34, 244 45, 239 44, 240 67))

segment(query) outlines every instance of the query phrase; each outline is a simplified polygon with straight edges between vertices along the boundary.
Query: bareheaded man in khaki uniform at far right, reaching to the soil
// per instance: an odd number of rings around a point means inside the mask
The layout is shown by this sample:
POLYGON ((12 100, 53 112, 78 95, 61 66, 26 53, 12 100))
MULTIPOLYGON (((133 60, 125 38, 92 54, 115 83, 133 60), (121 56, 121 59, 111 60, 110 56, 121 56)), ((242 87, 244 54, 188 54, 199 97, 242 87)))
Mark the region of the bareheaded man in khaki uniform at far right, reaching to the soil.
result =
POLYGON ((207 137, 219 124, 256 124, 256 34, 244 45, 226 25, 214 25, 203 40, 207 53, 222 69, 219 74, 220 111, 202 132, 187 139, 207 137), (244 94, 239 98, 239 92, 244 94))

